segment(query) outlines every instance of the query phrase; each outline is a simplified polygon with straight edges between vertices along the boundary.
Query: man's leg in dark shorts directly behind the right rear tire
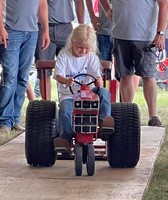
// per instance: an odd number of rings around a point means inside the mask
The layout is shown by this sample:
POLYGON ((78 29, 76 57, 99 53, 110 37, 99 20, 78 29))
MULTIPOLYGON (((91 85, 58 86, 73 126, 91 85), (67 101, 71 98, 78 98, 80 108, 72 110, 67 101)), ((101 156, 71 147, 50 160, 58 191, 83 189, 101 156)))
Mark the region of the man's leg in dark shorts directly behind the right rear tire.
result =
POLYGON ((120 81, 120 94, 123 102, 134 99, 134 62, 131 42, 114 39, 115 77, 120 81))

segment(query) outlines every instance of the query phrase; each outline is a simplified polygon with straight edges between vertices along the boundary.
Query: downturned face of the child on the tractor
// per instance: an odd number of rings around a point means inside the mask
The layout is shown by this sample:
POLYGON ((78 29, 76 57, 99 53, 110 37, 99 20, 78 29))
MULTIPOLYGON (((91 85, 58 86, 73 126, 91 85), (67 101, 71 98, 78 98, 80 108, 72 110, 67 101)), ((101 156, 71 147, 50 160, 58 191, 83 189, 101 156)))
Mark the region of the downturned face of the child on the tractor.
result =
POLYGON ((82 57, 88 54, 91 51, 91 48, 84 44, 79 42, 72 42, 72 55, 75 57, 82 57))

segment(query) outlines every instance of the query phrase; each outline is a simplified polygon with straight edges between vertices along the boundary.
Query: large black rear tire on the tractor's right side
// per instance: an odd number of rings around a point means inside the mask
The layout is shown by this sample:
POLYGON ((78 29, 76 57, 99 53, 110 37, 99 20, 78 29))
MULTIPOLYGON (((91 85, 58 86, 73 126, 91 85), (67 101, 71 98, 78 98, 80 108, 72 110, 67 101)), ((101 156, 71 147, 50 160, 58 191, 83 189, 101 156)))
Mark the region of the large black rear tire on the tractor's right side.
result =
POLYGON ((111 167, 135 167, 140 156, 140 112, 134 103, 112 103, 115 133, 107 142, 111 167))

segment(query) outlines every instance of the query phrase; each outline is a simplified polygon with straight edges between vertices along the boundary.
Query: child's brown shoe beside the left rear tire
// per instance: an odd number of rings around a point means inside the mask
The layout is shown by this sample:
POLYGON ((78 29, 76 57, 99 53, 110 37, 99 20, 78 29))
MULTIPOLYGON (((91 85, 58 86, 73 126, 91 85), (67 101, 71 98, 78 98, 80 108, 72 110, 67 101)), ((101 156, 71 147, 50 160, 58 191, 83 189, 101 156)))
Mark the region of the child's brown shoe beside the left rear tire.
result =
POLYGON ((55 138, 54 139, 54 147, 55 147, 54 148, 55 151, 57 151, 57 152, 71 154, 71 145, 65 139, 62 139, 60 137, 55 138))

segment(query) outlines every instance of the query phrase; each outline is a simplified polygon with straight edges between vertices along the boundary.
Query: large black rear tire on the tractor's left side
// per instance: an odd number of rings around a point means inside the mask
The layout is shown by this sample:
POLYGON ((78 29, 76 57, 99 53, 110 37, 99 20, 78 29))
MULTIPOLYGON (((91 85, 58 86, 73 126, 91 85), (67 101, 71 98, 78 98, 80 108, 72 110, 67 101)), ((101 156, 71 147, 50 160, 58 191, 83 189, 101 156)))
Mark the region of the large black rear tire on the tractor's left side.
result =
POLYGON ((51 101, 30 101, 26 111, 25 156, 32 166, 55 163, 52 121, 56 104, 51 101))

